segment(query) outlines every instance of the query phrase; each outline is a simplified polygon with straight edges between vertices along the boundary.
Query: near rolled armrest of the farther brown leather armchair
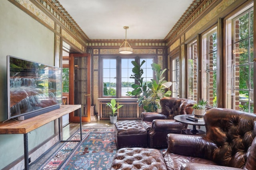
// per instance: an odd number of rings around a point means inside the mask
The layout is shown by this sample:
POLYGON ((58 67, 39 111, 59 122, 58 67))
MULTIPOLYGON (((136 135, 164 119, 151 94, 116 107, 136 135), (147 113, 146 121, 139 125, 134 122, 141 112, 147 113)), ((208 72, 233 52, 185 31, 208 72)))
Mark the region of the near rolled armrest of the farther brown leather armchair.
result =
POLYGON ((173 119, 155 119, 152 121, 152 128, 154 131, 172 131, 172 129, 184 129, 186 128, 185 123, 180 123, 173 119))

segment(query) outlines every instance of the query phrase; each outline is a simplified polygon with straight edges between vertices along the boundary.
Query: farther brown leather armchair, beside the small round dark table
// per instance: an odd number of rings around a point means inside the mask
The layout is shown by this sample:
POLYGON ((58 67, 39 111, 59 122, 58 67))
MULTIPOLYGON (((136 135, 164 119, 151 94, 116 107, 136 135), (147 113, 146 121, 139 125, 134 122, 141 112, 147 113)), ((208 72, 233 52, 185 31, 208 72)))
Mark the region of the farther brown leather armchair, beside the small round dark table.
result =
POLYGON ((165 97, 160 100, 161 113, 142 113, 142 125, 148 131, 148 145, 150 148, 167 147, 168 133, 181 133, 188 125, 173 119, 176 115, 192 114, 192 106, 196 102, 184 98, 165 97))

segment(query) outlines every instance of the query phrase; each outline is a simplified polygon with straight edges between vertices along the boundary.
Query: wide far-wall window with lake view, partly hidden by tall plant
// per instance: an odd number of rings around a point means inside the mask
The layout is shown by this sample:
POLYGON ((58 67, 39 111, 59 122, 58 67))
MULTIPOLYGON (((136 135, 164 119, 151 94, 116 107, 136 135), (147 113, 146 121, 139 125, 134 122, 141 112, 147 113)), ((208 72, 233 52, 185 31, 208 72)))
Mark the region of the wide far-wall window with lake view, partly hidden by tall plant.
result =
POLYGON ((144 81, 153 78, 151 64, 155 57, 101 57, 102 63, 102 97, 124 98, 132 97, 132 84, 134 79, 130 78, 132 73, 132 61, 140 62, 145 60, 142 65, 144 71, 144 81))

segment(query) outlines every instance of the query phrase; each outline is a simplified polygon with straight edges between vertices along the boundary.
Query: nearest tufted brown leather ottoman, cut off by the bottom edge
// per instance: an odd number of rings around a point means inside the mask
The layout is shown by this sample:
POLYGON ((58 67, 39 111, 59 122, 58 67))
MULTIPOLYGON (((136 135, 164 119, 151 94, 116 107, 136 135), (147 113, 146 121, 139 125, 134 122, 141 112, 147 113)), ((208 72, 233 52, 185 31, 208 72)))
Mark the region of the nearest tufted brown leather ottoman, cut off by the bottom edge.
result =
POLYGON ((122 148, 116 152, 111 170, 167 170, 157 149, 122 148))

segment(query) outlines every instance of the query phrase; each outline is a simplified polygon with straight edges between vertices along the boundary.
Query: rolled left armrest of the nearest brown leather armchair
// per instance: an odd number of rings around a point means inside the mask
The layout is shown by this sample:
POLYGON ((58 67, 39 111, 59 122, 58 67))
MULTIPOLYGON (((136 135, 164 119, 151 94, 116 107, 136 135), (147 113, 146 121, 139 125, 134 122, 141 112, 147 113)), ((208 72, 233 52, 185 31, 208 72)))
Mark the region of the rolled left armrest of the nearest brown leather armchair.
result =
POLYGON ((203 136, 172 134, 167 135, 167 152, 212 160, 212 150, 217 146, 203 136))

